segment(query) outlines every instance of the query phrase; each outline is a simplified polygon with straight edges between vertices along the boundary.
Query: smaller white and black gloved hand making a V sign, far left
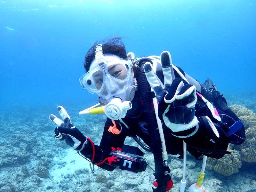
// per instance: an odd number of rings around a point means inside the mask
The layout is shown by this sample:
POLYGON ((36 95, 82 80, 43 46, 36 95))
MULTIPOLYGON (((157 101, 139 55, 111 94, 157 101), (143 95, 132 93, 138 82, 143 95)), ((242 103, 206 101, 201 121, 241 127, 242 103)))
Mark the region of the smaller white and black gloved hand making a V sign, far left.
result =
POLYGON ((63 121, 53 114, 49 116, 58 125, 54 130, 55 138, 65 140, 71 148, 81 151, 87 144, 87 138, 72 124, 67 111, 62 106, 58 106, 57 109, 63 121))

